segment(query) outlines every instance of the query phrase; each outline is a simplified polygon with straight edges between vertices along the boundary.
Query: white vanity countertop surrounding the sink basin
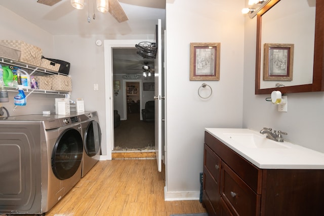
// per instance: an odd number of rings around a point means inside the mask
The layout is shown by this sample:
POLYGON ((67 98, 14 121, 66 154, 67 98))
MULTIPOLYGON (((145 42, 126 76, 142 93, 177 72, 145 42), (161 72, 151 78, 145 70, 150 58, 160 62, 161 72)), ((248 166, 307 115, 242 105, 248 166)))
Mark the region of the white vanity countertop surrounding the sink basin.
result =
MULTIPOLYGON (((266 169, 324 169, 324 153, 314 151, 293 143, 283 142, 285 148, 249 148, 229 138, 228 134, 255 134, 259 132, 246 128, 205 128, 236 153, 259 168, 266 169)), ((268 139, 267 139, 268 140, 268 139)), ((275 141, 273 141, 275 142, 275 141)), ((275 142, 278 143, 278 142, 275 142)))

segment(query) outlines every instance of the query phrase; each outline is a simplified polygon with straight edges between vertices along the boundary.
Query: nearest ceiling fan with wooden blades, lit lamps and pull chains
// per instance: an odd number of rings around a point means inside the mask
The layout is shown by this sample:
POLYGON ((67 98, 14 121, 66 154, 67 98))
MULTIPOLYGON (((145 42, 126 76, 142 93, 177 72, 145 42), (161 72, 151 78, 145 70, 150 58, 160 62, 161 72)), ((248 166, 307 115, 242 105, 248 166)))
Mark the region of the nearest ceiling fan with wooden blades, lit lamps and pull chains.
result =
MULTIPOLYGON (((95 0, 93 0, 95 1, 95 0)), ((38 0, 37 3, 41 3, 48 6, 53 6, 61 2, 61 0, 38 0)), ((119 2, 117 0, 96 0, 97 10, 106 13, 109 13, 118 21, 125 22, 128 20, 127 15, 125 14, 123 8, 121 8, 119 2)), ((71 5, 76 9, 83 9, 85 7, 85 0, 71 0, 71 5)), ((95 14, 93 16, 95 19, 95 14)), ((90 17, 88 17, 88 22, 90 22, 90 17)))

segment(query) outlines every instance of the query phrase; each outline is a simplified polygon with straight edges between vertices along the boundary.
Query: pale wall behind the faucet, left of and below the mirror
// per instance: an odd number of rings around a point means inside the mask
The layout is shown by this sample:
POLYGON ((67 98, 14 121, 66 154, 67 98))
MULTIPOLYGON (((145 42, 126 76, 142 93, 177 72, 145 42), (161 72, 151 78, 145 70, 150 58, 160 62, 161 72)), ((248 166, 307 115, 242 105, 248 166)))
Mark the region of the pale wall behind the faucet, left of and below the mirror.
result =
POLYGON ((288 94, 288 112, 278 112, 277 106, 265 101, 270 95, 255 95, 256 17, 246 18, 244 51, 243 126, 260 131, 272 127, 287 132, 284 139, 324 152, 324 93, 288 94))

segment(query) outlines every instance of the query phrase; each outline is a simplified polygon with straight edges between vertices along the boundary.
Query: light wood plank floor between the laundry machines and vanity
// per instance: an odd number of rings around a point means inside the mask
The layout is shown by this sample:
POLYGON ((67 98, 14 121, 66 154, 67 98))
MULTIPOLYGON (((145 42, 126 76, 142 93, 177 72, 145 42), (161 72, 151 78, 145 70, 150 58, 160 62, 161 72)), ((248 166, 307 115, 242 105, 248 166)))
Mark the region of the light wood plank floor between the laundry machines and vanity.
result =
POLYGON ((206 212, 198 200, 165 201, 164 186, 165 174, 157 172, 156 160, 99 161, 46 215, 169 216, 206 212))

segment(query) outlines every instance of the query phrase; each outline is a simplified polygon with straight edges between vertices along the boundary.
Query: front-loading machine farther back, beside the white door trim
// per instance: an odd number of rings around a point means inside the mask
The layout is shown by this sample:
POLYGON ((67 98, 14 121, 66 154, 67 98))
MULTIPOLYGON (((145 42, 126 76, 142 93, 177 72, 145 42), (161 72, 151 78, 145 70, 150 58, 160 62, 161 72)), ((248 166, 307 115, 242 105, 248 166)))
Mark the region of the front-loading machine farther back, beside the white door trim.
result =
POLYGON ((100 159, 101 129, 96 111, 87 111, 79 117, 84 143, 81 176, 83 178, 100 159))

